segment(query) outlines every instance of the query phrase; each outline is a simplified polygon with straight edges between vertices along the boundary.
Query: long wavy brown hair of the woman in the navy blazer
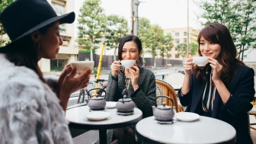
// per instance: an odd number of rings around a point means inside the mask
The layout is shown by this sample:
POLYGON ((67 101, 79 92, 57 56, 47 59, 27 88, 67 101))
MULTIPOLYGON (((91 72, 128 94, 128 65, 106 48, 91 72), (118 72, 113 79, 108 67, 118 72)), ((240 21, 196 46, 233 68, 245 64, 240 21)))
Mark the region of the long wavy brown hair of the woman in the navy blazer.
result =
MULTIPOLYGON (((236 58, 237 50, 228 28, 225 25, 219 23, 209 24, 204 27, 197 37, 198 54, 200 56, 202 56, 202 53, 200 52, 201 37, 207 41, 217 43, 221 46, 221 51, 218 57, 218 62, 222 65, 222 75, 220 78, 226 86, 229 85, 229 83, 232 81, 232 78, 235 76, 235 69, 237 66, 245 66, 245 63, 236 58)), ((194 75, 198 80, 207 82, 208 77, 206 77, 206 71, 209 68, 209 63, 204 67, 194 66, 194 75)))

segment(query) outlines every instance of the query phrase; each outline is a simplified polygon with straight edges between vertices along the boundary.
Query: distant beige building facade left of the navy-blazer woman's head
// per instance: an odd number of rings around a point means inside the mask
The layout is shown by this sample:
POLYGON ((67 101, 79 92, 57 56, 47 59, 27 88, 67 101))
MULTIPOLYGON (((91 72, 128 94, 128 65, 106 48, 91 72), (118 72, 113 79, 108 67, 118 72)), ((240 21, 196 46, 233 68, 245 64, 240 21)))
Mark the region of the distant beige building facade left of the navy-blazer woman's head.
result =
MULTIPOLYGON (((192 27, 189 27, 189 43, 197 43, 198 30, 195 30, 192 27)), ((174 58, 182 58, 178 56, 177 45, 179 43, 187 43, 187 27, 179 27, 179 28, 170 28, 164 29, 165 34, 171 34, 174 39, 174 47, 168 53, 171 59, 174 58)))

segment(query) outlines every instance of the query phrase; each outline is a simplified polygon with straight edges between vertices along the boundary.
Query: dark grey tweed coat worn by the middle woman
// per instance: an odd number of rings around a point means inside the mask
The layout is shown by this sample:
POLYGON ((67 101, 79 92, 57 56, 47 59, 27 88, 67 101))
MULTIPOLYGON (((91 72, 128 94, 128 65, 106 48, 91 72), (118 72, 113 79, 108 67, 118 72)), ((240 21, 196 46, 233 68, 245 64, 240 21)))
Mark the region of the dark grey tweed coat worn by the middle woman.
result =
MULTIPOLYGON (((132 98, 140 110, 142 110, 143 118, 151 117, 152 106, 155 106, 155 75, 154 73, 146 68, 139 66, 139 88, 134 91, 132 84, 128 88, 128 98, 132 98)), ((107 80, 107 101, 118 101, 122 98, 122 92, 125 88, 124 75, 119 72, 118 77, 114 78, 111 73, 107 80)), ((107 132, 107 142, 110 143, 112 140, 113 130, 107 132)))

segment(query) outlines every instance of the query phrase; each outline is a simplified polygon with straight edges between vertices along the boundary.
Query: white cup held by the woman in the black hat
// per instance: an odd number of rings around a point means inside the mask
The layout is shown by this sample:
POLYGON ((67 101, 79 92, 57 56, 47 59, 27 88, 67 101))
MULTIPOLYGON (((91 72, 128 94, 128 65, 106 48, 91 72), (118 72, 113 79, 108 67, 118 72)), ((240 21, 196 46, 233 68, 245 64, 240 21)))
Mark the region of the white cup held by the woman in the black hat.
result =
POLYGON ((77 62, 70 62, 70 66, 74 68, 76 67, 77 72, 83 72, 86 68, 93 69, 94 61, 77 61, 77 62))

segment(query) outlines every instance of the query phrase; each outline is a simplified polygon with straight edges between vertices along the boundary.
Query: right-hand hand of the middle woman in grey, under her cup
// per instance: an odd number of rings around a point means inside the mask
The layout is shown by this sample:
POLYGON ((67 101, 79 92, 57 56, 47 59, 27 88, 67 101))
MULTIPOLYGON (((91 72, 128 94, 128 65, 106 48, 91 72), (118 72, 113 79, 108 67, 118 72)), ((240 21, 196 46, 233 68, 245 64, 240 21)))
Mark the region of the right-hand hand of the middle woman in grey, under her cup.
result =
POLYGON ((136 91, 139 88, 138 80, 139 80, 139 68, 134 64, 132 68, 128 69, 130 72, 130 79, 133 85, 134 91, 136 91))

